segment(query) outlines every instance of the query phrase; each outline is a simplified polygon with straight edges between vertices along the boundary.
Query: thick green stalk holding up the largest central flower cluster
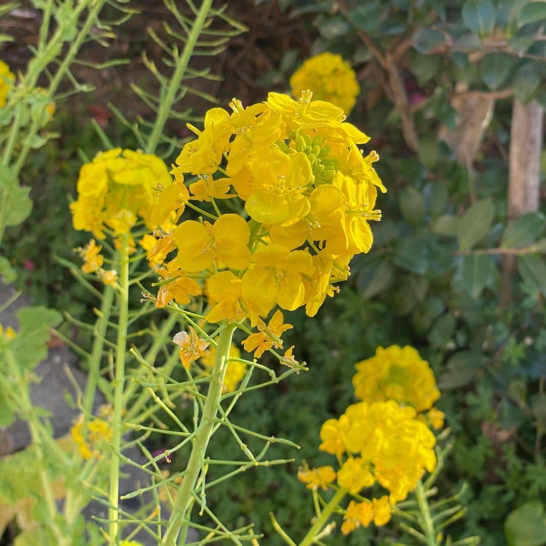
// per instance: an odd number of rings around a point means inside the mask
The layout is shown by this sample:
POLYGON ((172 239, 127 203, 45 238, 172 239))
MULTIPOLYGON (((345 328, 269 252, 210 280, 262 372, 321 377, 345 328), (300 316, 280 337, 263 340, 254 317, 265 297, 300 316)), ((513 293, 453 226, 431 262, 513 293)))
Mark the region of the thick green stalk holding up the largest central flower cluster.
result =
POLYGON ((165 531, 165 536, 163 538, 164 546, 175 546, 176 544, 180 527, 182 526, 183 519, 188 511, 188 505, 192 498, 195 483, 197 482, 201 467, 203 466, 206 448, 209 445, 209 440, 212 436, 212 429, 216 420, 220 397, 222 396, 222 384, 225 370, 227 369, 229 348, 232 344, 235 328, 234 324, 224 324, 218 338, 216 359, 212 368, 209 392, 207 393, 203 416, 201 417, 197 436, 193 443, 192 453, 189 456, 186 475, 177 492, 176 503, 169 519, 167 531, 165 531))

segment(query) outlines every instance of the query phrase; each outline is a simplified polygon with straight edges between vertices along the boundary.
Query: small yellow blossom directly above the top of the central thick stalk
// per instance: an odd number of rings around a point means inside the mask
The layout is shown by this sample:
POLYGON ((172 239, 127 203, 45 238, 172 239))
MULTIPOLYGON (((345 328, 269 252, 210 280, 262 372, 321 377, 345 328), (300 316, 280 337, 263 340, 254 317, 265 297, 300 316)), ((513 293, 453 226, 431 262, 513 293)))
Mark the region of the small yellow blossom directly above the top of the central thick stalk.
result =
POLYGON ((241 307, 241 279, 231 271, 212 275, 207 282, 207 290, 211 300, 216 302, 206 316, 207 322, 239 321, 246 316, 241 307))

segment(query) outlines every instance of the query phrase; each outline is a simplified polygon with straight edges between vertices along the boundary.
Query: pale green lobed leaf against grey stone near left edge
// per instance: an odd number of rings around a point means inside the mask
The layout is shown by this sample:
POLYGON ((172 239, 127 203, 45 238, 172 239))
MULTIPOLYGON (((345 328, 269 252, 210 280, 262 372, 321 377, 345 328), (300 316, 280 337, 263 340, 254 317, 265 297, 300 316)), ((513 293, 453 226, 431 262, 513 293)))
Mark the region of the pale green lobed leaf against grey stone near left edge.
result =
POLYGON ((46 343, 51 328, 62 321, 61 314, 43 306, 23 307, 17 312, 19 331, 11 341, 15 360, 25 370, 32 370, 48 355, 46 343))

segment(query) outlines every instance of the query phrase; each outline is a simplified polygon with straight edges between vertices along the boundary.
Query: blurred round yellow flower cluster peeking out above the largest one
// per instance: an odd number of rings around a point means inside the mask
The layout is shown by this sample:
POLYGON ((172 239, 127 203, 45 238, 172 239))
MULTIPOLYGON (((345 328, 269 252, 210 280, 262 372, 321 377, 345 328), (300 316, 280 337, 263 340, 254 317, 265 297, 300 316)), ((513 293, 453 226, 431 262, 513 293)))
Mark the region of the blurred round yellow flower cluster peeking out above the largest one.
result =
POLYGON ((349 115, 360 93, 357 75, 341 55, 324 52, 307 59, 290 78, 294 97, 310 89, 319 100, 328 100, 349 115))

